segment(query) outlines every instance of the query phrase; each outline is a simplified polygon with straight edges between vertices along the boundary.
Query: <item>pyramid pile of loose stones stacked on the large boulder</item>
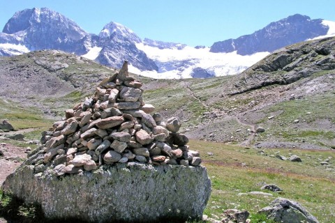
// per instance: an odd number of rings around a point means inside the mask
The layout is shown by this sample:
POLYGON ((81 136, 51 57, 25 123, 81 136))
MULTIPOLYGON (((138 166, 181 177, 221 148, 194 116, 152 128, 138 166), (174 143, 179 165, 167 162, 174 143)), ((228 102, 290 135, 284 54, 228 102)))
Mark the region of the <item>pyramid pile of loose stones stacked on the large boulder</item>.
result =
POLYGON ((125 61, 119 73, 96 87, 93 98, 66 110, 64 121, 42 133, 42 146, 27 160, 34 172, 52 167, 57 176, 79 174, 118 162, 199 166, 199 153, 177 133, 179 118, 165 123, 161 114, 151 116, 154 107, 144 104, 141 86, 128 77, 125 61))

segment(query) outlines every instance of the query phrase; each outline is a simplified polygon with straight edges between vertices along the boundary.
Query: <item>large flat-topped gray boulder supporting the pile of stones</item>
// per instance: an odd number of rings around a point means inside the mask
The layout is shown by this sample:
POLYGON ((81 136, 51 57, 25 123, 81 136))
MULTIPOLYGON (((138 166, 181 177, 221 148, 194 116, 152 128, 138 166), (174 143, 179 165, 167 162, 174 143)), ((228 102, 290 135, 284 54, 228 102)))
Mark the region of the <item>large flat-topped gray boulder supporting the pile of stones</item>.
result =
POLYGON ((89 222, 186 222, 202 218, 211 193, 204 167, 129 162, 57 177, 22 165, 3 191, 39 203, 52 219, 89 222), (65 208, 66 207, 66 208, 65 208))

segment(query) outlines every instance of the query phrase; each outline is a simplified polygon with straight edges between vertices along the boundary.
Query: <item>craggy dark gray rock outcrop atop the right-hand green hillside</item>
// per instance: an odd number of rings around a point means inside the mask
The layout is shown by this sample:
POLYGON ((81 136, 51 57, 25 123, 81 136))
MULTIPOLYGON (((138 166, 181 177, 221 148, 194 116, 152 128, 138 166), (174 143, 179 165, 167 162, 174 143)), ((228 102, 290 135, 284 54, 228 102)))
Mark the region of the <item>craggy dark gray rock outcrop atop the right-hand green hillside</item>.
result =
POLYGON ((335 69, 335 38, 313 40, 283 48, 238 76, 230 95, 270 85, 285 85, 324 70, 335 69))

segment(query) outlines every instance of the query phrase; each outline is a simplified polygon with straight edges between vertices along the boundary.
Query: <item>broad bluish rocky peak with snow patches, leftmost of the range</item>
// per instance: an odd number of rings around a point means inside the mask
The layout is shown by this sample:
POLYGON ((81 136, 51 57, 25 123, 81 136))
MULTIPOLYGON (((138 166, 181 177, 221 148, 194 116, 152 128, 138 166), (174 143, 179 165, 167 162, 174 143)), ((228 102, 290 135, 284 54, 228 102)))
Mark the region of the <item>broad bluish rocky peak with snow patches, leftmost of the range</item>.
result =
POLYGON ((3 33, 16 36, 19 44, 30 51, 61 49, 67 52, 75 51, 75 43, 87 35, 75 22, 48 8, 15 13, 3 27, 3 33))

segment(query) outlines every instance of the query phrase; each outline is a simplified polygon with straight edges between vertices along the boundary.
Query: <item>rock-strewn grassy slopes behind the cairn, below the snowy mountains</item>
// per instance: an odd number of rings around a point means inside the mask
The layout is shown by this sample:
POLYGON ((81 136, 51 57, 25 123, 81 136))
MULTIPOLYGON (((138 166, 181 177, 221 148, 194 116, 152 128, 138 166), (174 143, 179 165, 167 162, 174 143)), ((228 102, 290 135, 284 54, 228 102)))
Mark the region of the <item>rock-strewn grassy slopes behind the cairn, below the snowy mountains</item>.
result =
MULTIPOLYGON (((240 75, 181 80, 132 76, 144 83, 145 101, 164 117, 179 116, 182 130, 193 139, 259 148, 331 148, 334 54, 335 38, 326 38, 285 47, 240 75), (255 133, 259 126, 265 132, 255 133)), ((64 52, 2 57, 0 98, 62 116, 114 72, 64 52)))

